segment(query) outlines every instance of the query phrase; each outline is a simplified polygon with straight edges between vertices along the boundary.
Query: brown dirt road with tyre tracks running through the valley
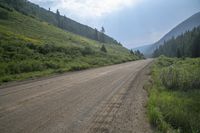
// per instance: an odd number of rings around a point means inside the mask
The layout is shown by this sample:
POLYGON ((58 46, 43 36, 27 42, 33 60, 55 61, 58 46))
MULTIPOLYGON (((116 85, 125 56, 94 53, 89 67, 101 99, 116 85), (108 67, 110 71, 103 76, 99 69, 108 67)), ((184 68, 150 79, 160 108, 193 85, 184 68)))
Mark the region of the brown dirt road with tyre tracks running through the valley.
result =
POLYGON ((0 89, 0 133, 150 133, 143 89, 151 59, 0 89))

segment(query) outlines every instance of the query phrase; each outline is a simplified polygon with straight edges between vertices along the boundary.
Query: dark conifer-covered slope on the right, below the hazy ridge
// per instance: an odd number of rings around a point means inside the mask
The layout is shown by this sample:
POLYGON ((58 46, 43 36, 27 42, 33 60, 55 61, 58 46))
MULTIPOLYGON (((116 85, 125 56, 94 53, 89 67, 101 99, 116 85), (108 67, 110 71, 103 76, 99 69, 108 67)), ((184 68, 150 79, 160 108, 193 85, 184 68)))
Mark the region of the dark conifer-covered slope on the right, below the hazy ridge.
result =
POLYGON ((154 57, 200 57, 200 27, 164 42, 154 51, 154 57))

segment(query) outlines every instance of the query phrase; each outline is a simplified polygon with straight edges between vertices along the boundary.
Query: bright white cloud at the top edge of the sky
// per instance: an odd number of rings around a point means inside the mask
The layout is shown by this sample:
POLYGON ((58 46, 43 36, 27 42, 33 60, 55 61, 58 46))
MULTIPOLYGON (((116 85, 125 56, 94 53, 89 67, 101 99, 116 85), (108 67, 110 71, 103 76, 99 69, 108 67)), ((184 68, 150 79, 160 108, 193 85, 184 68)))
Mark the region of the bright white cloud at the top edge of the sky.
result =
MULTIPOLYGON (((37 4, 51 3, 51 9, 80 18, 99 18, 135 5, 140 0, 31 0, 37 4)), ((47 7, 48 8, 48 7, 47 7)))

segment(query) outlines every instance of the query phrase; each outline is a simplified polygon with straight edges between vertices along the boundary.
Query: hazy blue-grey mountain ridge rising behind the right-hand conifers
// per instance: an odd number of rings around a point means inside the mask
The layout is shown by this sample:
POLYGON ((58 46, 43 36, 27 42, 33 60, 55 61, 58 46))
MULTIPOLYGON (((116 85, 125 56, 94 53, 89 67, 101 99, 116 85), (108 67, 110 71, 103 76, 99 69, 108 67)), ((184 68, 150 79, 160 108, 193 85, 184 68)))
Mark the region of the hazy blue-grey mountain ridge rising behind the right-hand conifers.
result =
POLYGON ((182 23, 178 24, 156 43, 137 47, 134 48, 134 50, 141 50, 141 52, 143 52, 143 54, 146 57, 150 57, 152 53, 156 50, 156 48, 158 48, 160 45, 163 45, 165 41, 168 41, 173 37, 176 38, 177 36, 185 33, 186 31, 191 31, 198 26, 200 26, 200 12, 192 15, 182 23))

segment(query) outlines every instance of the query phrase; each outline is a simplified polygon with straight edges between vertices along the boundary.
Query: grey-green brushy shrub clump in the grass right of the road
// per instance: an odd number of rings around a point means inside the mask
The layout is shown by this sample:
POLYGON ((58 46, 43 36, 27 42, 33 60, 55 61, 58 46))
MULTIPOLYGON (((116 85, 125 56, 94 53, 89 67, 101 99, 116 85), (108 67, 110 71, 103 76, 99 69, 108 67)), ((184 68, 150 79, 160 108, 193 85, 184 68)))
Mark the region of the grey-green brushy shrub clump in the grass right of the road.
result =
MULTIPOLYGON (((192 66, 191 66, 192 67, 192 66)), ((169 89, 189 90, 200 89, 200 70, 197 67, 185 68, 170 66, 162 69, 160 79, 163 85, 169 89)))

